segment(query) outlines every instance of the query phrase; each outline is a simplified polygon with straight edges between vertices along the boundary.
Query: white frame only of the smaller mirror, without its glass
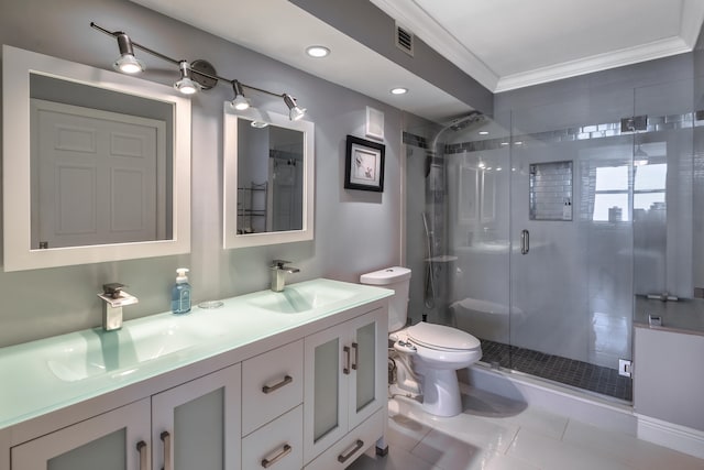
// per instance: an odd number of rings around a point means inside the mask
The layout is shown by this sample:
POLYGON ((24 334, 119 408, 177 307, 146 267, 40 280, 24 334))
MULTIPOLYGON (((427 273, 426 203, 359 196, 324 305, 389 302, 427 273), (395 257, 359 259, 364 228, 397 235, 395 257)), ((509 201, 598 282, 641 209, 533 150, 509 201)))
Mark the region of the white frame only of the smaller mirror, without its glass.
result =
POLYGON ((246 248, 312 240, 316 168, 315 124, 305 120, 290 121, 288 116, 257 109, 235 111, 230 101, 226 101, 223 105, 223 116, 222 247, 224 249, 246 248), (238 119, 265 121, 272 125, 304 133, 304 226, 301 230, 238 234, 238 119))

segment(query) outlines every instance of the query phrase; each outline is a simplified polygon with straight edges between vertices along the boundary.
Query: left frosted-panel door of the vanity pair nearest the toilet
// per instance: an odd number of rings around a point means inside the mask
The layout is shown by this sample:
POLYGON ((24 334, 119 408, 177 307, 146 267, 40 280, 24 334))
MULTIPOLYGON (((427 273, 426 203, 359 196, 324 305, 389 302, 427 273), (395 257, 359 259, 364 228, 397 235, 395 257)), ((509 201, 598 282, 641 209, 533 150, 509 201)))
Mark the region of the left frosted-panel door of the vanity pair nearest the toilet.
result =
POLYGON ((310 461, 348 430, 349 328, 345 323, 305 339, 305 461, 310 461))

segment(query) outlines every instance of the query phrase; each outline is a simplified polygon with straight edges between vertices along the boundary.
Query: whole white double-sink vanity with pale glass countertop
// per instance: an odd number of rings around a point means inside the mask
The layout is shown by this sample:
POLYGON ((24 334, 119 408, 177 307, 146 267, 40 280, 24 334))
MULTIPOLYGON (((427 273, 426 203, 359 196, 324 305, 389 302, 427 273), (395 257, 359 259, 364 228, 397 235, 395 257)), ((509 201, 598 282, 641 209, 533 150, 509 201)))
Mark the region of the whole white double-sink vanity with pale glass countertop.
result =
POLYGON ((391 294, 319 278, 4 348, 0 468, 344 468, 384 447, 391 294))

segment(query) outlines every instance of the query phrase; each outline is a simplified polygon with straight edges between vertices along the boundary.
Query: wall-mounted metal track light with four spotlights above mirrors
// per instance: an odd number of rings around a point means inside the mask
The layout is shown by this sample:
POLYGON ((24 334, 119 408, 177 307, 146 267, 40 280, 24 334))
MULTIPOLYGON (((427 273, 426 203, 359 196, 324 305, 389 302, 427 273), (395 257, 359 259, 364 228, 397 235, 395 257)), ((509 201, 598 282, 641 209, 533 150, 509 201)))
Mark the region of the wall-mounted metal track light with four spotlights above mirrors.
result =
POLYGON ((296 99, 288 94, 275 94, 243 84, 239 80, 220 77, 217 75, 215 67, 206 61, 198 59, 190 63, 188 61, 176 61, 175 58, 131 41, 122 31, 108 31, 92 22, 90 23, 90 26, 118 40, 120 57, 113 64, 114 69, 118 72, 138 74, 144 70, 144 63, 134 56, 134 48, 139 48, 178 67, 180 78, 174 84, 174 88, 184 95, 193 95, 200 90, 213 88, 218 83, 227 83, 232 86, 234 91, 234 98, 231 101, 231 106, 237 110, 242 111, 250 108, 250 101, 244 97, 244 88, 248 88, 265 95, 283 98, 284 103, 288 107, 288 117, 292 121, 297 121, 306 116, 306 109, 300 108, 296 103, 296 99))

